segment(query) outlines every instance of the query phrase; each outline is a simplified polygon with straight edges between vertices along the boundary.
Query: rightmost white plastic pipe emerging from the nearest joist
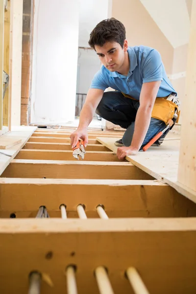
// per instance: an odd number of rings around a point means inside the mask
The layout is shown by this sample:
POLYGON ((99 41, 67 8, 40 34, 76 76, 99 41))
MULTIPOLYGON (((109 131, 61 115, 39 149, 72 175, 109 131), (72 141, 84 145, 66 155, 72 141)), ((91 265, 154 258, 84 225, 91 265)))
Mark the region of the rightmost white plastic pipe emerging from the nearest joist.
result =
POLYGON ((149 294, 147 287, 135 268, 128 268, 126 274, 135 294, 149 294))

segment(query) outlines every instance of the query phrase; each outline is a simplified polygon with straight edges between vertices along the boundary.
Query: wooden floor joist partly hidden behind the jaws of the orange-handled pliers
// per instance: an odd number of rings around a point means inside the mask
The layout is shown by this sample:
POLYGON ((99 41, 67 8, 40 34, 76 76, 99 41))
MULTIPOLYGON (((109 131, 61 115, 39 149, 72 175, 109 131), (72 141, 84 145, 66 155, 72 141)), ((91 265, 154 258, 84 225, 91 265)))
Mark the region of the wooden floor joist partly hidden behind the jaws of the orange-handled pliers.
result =
MULTIPOLYGON (((73 160, 72 150, 21 149, 15 159, 73 160)), ((120 161, 114 152, 87 151, 84 161, 120 161)))

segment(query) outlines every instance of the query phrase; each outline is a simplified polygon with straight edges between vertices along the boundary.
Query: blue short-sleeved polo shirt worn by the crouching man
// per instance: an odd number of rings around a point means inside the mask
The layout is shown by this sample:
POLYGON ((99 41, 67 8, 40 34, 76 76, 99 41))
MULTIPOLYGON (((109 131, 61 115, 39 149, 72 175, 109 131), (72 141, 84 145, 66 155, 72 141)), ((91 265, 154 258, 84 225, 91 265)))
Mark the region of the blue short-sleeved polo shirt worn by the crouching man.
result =
POLYGON ((167 77, 160 53, 147 46, 128 47, 130 69, 127 76, 110 72, 104 66, 95 74, 90 88, 105 90, 111 87, 139 100, 143 83, 161 81, 157 97, 176 93, 167 77))

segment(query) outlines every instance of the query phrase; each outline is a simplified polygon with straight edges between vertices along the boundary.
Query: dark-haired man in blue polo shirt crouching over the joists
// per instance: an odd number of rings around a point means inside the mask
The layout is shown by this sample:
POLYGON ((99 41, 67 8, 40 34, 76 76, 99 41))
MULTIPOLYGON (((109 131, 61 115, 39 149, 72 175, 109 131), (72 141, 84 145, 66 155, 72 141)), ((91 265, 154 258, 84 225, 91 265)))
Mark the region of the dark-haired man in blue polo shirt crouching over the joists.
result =
POLYGON ((103 66, 94 76, 79 126, 71 135, 71 145, 74 147, 79 138, 85 146, 88 144, 87 128, 96 111, 100 117, 126 129, 122 140, 115 143, 120 146, 118 158, 135 155, 166 126, 165 119, 157 115, 159 108, 152 116, 155 99, 176 95, 161 56, 146 46, 128 47, 125 27, 114 18, 103 20, 93 29, 89 45, 103 66), (108 87, 116 91, 104 93, 108 87))

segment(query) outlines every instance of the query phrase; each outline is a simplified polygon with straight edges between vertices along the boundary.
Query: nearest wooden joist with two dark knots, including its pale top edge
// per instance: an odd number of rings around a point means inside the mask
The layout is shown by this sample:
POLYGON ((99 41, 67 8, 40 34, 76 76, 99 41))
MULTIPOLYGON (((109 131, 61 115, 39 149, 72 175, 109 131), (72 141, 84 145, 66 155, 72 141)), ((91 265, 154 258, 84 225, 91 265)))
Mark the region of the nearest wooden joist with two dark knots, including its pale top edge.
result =
POLYGON ((94 270, 100 265, 116 294, 131 293, 124 277, 130 266, 151 294, 195 293, 195 218, 1 220, 0 241, 3 294, 26 294, 31 270, 52 281, 53 287, 42 283, 43 294, 60 294, 70 264, 77 266, 80 294, 98 294, 94 270))

